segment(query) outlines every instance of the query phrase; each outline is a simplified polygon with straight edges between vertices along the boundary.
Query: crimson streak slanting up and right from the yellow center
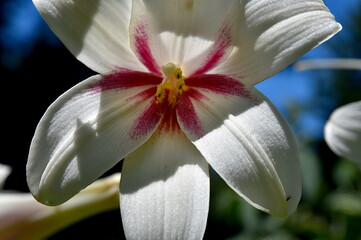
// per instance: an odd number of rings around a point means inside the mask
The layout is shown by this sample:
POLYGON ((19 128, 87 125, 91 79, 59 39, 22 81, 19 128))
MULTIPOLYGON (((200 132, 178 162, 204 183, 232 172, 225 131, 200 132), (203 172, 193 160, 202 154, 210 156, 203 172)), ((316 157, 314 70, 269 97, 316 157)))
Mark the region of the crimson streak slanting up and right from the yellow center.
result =
POLYGON ((226 54, 228 47, 232 45, 231 27, 225 24, 218 32, 218 38, 215 41, 211 52, 208 54, 206 61, 191 76, 204 74, 216 67, 226 54))

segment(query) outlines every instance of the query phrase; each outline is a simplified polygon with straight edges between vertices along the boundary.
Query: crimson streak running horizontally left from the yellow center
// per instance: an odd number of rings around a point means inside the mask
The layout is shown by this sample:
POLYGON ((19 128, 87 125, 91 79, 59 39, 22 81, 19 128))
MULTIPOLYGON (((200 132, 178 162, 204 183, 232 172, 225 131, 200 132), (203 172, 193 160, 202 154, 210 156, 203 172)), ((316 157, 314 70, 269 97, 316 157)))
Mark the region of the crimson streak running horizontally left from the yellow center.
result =
POLYGON ((111 89, 128 89, 147 85, 158 85, 162 78, 153 73, 145 73, 122 69, 120 71, 104 75, 94 86, 90 86, 90 91, 99 93, 111 89))

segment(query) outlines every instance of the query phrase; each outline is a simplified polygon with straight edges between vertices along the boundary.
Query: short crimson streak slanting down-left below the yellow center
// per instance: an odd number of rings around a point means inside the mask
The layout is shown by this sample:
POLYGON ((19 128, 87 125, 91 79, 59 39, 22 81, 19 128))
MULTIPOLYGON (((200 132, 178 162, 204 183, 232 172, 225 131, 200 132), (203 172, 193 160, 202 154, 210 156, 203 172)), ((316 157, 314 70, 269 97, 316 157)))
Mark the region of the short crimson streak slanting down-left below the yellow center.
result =
POLYGON ((162 118, 162 114, 159 112, 159 108, 154 101, 144 109, 139 118, 134 122, 130 137, 132 139, 138 139, 144 135, 147 135, 152 129, 156 128, 162 118))

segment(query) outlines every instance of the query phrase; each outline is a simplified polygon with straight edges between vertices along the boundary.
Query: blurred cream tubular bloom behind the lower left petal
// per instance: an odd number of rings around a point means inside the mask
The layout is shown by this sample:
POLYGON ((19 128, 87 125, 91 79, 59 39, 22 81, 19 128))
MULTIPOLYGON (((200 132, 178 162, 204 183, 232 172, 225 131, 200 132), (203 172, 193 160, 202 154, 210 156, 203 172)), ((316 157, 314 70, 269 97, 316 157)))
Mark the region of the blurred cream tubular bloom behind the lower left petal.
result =
POLYGON ((37 202, 30 193, 0 192, 0 239, 44 239, 82 219, 116 209, 119 181, 120 174, 98 180, 56 207, 37 202))

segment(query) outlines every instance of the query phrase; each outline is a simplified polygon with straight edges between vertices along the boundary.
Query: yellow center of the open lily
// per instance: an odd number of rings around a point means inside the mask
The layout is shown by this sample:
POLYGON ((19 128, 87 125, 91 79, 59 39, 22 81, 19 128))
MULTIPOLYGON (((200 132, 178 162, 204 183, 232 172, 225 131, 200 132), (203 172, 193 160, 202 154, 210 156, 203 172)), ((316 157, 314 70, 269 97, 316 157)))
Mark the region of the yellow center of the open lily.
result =
POLYGON ((171 107, 175 107, 178 104, 179 96, 188 90, 184 83, 182 69, 173 63, 167 63, 162 67, 162 71, 164 78, 162 83, 157 86, 155 102, 156 104, 161 104, 164 101, 168 101, 171 107))

